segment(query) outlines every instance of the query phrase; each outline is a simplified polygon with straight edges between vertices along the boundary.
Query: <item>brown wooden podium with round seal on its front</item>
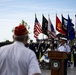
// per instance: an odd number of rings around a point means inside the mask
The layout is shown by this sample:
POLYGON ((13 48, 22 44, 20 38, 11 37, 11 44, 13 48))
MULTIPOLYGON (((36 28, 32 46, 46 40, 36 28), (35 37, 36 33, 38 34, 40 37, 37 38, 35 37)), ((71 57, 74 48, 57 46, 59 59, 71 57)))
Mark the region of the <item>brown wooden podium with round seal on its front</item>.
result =
POLYGON ((51 59, 51 75, 64 75, 64 60, 68 59, 66 52, 48 51, 51 59))

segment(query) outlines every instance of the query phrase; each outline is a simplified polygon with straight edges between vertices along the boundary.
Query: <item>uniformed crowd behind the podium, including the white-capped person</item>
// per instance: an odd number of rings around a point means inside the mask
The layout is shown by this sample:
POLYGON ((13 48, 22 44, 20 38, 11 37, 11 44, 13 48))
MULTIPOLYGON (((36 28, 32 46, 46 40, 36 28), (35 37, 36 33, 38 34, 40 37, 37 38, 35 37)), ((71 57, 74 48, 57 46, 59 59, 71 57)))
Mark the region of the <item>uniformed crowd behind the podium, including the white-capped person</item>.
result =
POLYGON ((42 62, 42 66, 44 66, 44 62, 50 63, 50 60, 48 58, 48 51, 54 50, 66 52, 68 59, 64 61, 64 75, 67 75, 67 67, 70 67, 73 62, 74 67, 76 67, 76 43, 74 43, 74 45, 71 45, 70 42, 71 41, 68 41, 65 37, 60 37, 59 40, 37 40, 36 43, 34 43, 33 40, 30 40, 28 48, 32 49, 35 52, 39 62, 42 62), (72 55, 73 58, 71 59, 72 55))

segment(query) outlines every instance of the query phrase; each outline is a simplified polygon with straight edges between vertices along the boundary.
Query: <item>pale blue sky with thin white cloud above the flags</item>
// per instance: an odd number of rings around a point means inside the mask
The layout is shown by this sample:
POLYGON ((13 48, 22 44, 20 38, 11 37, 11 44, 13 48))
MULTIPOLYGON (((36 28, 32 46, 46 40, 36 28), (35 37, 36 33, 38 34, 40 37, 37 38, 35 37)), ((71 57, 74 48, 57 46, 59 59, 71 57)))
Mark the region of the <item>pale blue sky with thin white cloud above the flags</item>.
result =
MULTIPOLYGON (((75 24, 76 0, 0 0, 0 41, 12 41, 12 29, 22 20, 30 25, 30 37, 33 37, 35 13, 42 24, 42 14, 50 19, 55 27, 56 13, 61 20, 61 14, 68 18, 68 14, 75 24)), ((41 34, 40 34, 41 35, 41 34)), ((42 38, 42 35, 39 38, 42 38)))

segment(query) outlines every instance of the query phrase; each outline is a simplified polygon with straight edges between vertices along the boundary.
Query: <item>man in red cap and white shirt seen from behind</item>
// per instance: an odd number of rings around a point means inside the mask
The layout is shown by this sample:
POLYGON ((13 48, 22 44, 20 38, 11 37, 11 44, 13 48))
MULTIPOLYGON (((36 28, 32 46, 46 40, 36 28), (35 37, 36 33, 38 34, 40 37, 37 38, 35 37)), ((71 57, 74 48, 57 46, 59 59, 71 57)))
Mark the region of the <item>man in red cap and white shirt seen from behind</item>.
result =
POLYGON ((35 53, 25 47, 28 31, 22 24, 14 29, 14 43, 0 48, 0 75, 40 75, 35 53))

